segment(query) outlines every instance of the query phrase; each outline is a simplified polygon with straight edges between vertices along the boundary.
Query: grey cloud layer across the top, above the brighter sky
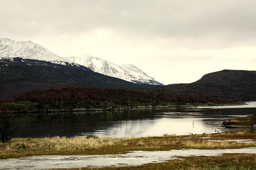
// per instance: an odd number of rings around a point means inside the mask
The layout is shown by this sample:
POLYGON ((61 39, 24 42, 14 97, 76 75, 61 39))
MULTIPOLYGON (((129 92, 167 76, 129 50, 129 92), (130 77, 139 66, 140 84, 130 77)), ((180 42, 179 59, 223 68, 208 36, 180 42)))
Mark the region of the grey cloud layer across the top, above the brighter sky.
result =
POLYGON ((115 28, 127 35, 196 41, 189 46, 256 43, 255 0, 0 0, 0 4, 0 35, 79 35, 115 28))

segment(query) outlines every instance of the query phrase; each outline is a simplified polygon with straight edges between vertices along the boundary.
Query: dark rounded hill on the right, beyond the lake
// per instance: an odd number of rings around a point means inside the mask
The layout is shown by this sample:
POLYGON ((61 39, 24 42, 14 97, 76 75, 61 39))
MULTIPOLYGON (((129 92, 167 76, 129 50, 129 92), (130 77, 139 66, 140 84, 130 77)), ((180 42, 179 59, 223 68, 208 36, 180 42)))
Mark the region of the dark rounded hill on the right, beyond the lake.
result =
POLYGON ((164 89, 175 95, 223 95, 256 100, 256 71, 222 70, 206 74, 194 83, 167 85, 164 89))

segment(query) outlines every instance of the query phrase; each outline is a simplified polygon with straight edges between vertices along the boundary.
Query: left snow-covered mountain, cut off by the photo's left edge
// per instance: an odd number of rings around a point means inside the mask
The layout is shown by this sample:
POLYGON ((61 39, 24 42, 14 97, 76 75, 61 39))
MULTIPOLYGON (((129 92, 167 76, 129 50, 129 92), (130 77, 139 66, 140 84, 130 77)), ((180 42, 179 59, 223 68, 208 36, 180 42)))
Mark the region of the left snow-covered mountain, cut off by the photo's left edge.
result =
POLYGON ((12 39, 0 38, 0 59, 11 59, 16 57, 50 61, 57 64, 70 62, 68 59, 62 58, 53 52, 50 52, 43 46, 31 41, 14 41, 12 39))

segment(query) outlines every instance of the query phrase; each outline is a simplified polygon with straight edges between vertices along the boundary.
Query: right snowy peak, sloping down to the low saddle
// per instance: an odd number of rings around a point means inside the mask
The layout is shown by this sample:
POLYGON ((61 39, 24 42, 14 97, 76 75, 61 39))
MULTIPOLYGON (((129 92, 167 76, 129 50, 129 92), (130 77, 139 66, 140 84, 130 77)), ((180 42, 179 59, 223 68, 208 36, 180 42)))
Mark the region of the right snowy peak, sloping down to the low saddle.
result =
POLYGON ((107 60, 103 60, 92 56, 72 56, 67 59, 72 62, 86 66, 94 72, 99 72, 115 78, 120 78, 129 82, 150 85, 162 85, 155 81, 154 78, 148 76, 145 72, 141 71, 134 65, 116 65, 107 60))

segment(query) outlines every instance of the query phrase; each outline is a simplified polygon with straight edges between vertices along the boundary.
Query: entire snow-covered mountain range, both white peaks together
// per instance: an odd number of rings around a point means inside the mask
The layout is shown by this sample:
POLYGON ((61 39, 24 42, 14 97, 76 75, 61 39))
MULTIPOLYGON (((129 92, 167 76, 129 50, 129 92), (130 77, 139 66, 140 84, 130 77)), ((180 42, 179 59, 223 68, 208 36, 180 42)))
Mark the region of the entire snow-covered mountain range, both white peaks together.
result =
POLYGON ((120 78, 129 82, 162 85, 134 65, 115 65, 107 60, 92 56, 60 57, 32 41, 14 41, 12 39, 0 38, 0 59, 13 59, 17 57, 21 59, 50 61, 51 63, 62 65, 83 65, 94 72, 120 78))

